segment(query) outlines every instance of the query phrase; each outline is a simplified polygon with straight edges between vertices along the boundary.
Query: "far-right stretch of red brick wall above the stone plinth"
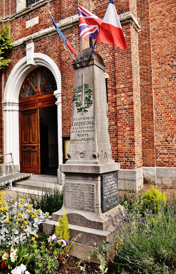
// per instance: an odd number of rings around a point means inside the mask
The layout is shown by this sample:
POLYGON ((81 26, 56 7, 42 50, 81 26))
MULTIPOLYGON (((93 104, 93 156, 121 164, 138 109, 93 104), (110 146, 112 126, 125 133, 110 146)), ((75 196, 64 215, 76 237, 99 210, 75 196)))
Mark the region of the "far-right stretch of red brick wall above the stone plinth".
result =
POLYGON ((157 166, 176 166, 175 1, 150 1, 157 166))

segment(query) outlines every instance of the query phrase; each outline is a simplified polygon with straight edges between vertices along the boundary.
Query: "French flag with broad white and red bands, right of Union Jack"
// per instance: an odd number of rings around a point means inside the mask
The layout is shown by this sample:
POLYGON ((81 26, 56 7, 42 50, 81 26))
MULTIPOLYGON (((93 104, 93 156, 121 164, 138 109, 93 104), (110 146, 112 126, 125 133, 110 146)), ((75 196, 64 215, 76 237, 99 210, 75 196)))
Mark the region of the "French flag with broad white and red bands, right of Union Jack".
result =
POLYGON ((126 50, 127 44, 113 0, 110 0, 96 41, 126 50))

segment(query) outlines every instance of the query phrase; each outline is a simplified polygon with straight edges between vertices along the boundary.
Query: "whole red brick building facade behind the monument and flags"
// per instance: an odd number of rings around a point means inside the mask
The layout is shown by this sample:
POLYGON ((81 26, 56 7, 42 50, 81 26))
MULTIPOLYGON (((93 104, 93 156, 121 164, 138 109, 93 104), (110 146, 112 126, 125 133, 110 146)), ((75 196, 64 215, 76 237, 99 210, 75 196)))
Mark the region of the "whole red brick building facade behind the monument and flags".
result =
MULTIPOLYGON (((112 158, 120 163, 121 171, 130 173, 119 185, 131 189, 142 184, 147 167, 175 167, 176 160, 176 56, 175 56, 175 2, 151 0, 114 1, 124 33, 127 49, 122 51, 97 42, 96 51, 105 65, 108 90, 107 117, 112 158), (124 170, 124 171, 123 171, 124 170), (137 171, 139 170, 139 171, 137 171), (140 179, 135 181, 138 172, 140 179)), ((80 0, 80 5, 103 19, 108 2, 80 0)), ((23 0, 0 0, 1 25, 10 26, 14 47, 7 56, 10 65, 0 71, 0 149, 4 152, 4 89, 13 67, 26 56, 26 43, 34 42, 34 53, 43 53, 57 64, 62 81, 62 136, 70 136, 71 101, 73 88, 72 60, 56 32, 44 30, 53 27, 47 13, 51 11, 58 23, 64 20, 62 31, 76 52, 80 51, 76 1, 40 0, 25 7, 23 0), (39 18, 38 24, 26 29, 26 22, 39 18), (75 17, 76 18, 76 17, 75 17), (38 34, 39 33, 39 34, 38 34), (41 35, 40 35, 41 34, 41 35), (37 36, 38 35, 38 36, 37 36), (27 37, 30 37, 27 40, 27 37), (24 39, 21 42, 20 39, 24 39), (31 41, 30 41, 31 39, 31 41), (19 41, 20 40, 20 41, 19 41), (19 41, 19 42, 18 42, 19 41)), ((89 38, 83 38, 83 49, 89 47, 89 38)), ((31 68, 32 70, 32 68, 31 68)), ((13 98, 12 98, 13 99, 13 98)), ((9 110, 10 112, 10 110, 9 110)), ((9 148, 5 148, 9 150, 9 148)), ((8 151, 9 152, 9 151, 8 151)), ((170 169, 169 169, 170 170, 170 169)), ((170 170, 171 171, 171 170, 170 170)), ((148 173, 147 173, 148 174, 148 173)), ((171 174, 170 174, 171 175, 171 174)), ((166 185, 175 185, 175 177, 158 179, 166 185)), ((145 184, 155 180, 146 173, 145 184)))

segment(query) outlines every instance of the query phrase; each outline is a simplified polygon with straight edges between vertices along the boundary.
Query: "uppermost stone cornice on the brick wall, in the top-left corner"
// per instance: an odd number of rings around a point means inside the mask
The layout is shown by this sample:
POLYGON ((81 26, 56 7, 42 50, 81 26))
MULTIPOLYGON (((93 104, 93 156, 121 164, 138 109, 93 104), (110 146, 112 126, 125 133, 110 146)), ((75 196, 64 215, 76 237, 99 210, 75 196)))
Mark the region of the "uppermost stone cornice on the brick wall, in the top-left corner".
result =
POLYGON ((3 23, 8 22, 8 21, 12 21, 12 20, 14 20, 14 19, 16 19, 16 18, 18 18, 22 15, 25 15, 26 13, 29 13, 29 12, 31 12, 31 11, 39 8, 39 7, 44 6, 45 4, 47 4, 51 1, 53 1, 53 0, 40 0, 40 1, 38 1, 34 4, 32 4, 32 5, 28 6, 27 8, 24 8, 24 9, 20 10, 19 12, 16 12, 12 15, 7 15, 5 17, 2 17, 1 20, 2 20, 3 23))

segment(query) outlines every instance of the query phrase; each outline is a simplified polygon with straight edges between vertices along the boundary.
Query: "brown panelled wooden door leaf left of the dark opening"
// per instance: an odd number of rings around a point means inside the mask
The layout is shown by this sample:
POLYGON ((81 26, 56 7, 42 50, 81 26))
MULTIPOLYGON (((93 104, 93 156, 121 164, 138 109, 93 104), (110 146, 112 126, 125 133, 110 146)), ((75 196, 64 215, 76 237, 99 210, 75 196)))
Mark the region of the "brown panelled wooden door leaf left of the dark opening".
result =
POLYGON ((21 111, 20 116, 20 169, 24 173, 41 174, 39 109, 21 111))

